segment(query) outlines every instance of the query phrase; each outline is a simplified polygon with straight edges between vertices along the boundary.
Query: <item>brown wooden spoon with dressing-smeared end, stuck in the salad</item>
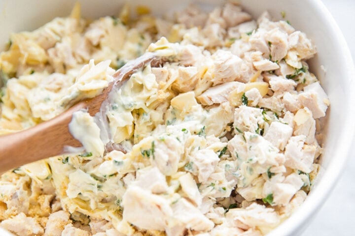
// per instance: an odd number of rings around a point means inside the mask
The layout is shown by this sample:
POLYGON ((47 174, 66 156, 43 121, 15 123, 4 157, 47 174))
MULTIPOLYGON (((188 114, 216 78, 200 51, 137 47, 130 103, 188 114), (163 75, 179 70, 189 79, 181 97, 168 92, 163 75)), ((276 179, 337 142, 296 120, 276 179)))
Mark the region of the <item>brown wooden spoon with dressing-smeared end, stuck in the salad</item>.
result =
POLYGON ((88 113, 94 116, 100 111, 112 87, 119 88, 137 69, 156 61, 154 54, 146 53, 116 71, 113 75, 115 80, 100 95, 81 101, 59 116, 32 128, 0 136, 0 173, 40 159, 64 154, 66 146, 81 147, 81 143, 71 136, 69 131, 68 125, 72 114, 80 109, 87 109, 88 113))

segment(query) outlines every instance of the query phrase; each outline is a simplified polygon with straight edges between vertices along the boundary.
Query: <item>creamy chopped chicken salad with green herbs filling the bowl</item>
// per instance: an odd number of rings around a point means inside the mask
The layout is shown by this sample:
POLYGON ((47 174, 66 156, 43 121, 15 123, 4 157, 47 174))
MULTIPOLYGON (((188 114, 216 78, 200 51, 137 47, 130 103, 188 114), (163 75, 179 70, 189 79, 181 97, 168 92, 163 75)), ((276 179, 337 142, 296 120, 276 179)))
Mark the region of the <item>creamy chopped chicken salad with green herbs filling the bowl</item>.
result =
MULTIPOLYGON (((158 18, 125 5, 80 17, 76 5, 0 54, 0 134, 34 126, 99 94, 116 69, 147 63, 114 91, 106 140, 76 112, 84 152, 1 176, 0 226, 17 235, 265 235, 299 207, 320 165, 329 100, 305 33, 227 2, 158 18)), ((282 14, 284 16, 284 14, 282 14)))

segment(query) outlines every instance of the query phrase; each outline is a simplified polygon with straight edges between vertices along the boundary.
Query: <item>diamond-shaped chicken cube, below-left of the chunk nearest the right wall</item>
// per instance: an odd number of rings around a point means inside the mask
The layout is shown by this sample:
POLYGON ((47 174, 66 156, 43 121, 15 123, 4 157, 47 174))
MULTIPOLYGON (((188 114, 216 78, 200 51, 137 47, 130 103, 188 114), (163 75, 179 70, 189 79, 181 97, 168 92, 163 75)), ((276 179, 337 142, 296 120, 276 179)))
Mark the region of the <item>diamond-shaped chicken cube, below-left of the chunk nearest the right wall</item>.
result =
POLYGON ((271 122, 264 138, 272 143, 276 148, 284 150, 288 140, 292 136, 292 128, 278 121, 271 122))

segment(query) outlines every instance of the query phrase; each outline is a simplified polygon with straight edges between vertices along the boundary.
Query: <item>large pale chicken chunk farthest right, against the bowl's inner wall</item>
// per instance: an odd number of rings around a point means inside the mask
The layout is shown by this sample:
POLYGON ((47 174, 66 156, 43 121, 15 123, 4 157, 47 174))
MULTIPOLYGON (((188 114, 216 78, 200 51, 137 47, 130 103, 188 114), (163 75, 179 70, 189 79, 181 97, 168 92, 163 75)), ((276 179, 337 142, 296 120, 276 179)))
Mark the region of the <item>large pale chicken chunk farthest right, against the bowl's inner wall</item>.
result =
POLYGON ((300 103, 312 111, 313 118, 317 119, 325 116, 325 112, 329 106, 329 100, 320 87, 320 83, 316 82, 303 88, 298 96, 300 103))

